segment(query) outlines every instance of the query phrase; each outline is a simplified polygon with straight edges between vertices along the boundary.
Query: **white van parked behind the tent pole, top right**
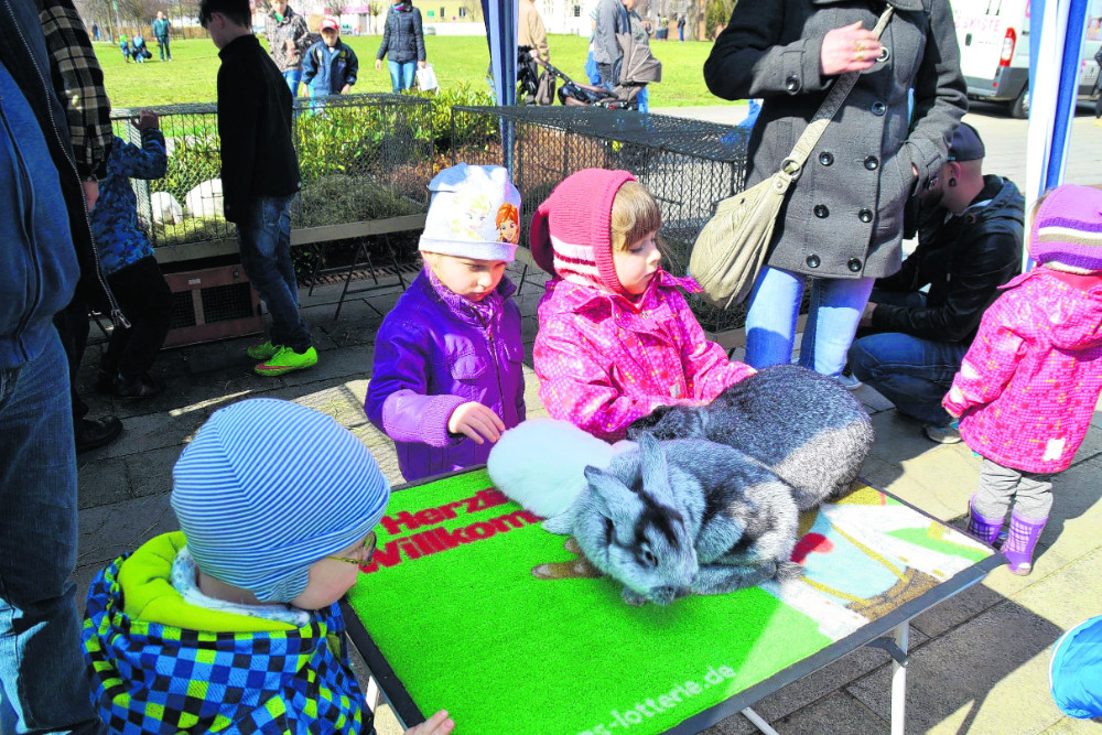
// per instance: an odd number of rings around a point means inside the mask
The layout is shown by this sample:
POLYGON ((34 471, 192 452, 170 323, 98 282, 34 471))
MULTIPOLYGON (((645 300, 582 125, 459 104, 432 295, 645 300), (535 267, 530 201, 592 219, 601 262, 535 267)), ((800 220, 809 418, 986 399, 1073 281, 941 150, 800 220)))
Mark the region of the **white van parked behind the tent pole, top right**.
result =
MULTIPOLYGON (((1029 0, 952 0, 961 72, 970 99, 1004 101, 1011 116, 1029 115, 1029 0)), ((1079 100, 1098 99, 1102 0, 1088 8, 1087 43, 1079 63, 1079 100)))

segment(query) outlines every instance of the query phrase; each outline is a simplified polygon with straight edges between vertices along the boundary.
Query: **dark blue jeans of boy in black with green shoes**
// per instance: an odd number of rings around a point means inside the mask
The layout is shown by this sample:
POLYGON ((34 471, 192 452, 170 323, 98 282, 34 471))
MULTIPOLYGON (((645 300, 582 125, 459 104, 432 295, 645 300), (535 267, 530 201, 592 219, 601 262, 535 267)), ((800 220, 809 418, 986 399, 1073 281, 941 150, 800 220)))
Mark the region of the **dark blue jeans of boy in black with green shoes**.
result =
POLYGON ((293 198, 293 194, 256 197, 245 224, 237 226, 237 236, 245 274, 272 317, 272 344, 302 353, 310 348, 310 332, 299 315, 299 283, 291 263, 293 198))

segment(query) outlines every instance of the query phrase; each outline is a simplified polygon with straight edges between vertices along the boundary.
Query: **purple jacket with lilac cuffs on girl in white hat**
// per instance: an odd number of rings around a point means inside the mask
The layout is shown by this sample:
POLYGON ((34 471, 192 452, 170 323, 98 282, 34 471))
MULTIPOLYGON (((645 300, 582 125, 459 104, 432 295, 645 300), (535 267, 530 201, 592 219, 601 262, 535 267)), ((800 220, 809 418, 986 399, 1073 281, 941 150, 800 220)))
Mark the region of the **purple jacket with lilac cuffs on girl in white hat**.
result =
POLYGON ((486 461, 493 444, 447 433, 462 403, 478 401, 506 428, 525 420, 520 310, 503 279, 478 309, 433 288, 422 271, 387 314, 375 343, 364 410, 395 440, 398 466, 412 482, 486 461))

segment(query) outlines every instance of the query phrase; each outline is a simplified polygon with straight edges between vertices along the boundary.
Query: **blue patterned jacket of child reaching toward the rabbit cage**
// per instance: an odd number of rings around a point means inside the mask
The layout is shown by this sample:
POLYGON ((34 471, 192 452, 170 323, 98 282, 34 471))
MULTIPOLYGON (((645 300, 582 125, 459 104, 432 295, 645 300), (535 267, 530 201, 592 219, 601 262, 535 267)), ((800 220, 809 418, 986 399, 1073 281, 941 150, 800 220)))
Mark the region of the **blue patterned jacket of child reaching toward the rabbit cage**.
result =
POLYGON ((107 160, 107 179, 99 182, 99 198, 91 210, 91 236, 105 275, 153 255, 153 245, 138 219, 138 197, 130 180, 160 179, 168 165, 160 130, 142 131, 141 148, 115 137, 107 160))

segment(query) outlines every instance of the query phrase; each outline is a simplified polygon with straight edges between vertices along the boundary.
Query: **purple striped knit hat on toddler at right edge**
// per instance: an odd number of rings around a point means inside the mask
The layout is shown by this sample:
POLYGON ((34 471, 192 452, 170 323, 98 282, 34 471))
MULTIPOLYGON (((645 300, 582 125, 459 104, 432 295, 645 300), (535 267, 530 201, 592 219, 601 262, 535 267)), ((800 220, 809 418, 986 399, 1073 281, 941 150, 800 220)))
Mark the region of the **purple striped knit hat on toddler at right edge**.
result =
POLYGON ((1056 270, 1102 270, 1102 190, 1076 184, 1052 190, 1034 215, 1029 255, 1056 270))

